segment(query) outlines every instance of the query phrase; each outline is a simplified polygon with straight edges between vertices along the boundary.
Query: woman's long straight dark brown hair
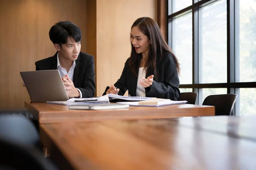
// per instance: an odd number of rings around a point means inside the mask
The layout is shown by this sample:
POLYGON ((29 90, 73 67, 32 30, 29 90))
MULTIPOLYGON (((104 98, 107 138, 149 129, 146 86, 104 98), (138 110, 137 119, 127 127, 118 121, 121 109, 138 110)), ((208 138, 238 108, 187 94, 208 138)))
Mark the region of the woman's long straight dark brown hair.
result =
MULTIPOLYGON (((138 18, 133 25, 131 26, 131 29, 137 26, 140 31, 148 37, 148 40, 151 41, 151 45, 149 46, 149 52, 148 52, 148 59, 145 63, 145 71, 148 73, 148 70, 150 69, 153 71, 153 74, 156 76, 156 65, 157 62, 160 61, 160 59, 163 56, 163 53, 170 52, 172 53, 172 56, 175 59, 175 65, 178 74, 180 74, 180 64, 176 58, 176 56, 173 54, 172 49, 169 47, 169 45, 164 40, 160 28, 158 24, 149 17, 141 17, 138 18)), ((138 70, 139 70, 139 63, 140 59, 142 57, 142 54, 137 54, 135 51, 135 48, 133 47, 131 43, 131 57, 129 59, 129 66, 131 68, 131 72, 138 76, 138 70)))

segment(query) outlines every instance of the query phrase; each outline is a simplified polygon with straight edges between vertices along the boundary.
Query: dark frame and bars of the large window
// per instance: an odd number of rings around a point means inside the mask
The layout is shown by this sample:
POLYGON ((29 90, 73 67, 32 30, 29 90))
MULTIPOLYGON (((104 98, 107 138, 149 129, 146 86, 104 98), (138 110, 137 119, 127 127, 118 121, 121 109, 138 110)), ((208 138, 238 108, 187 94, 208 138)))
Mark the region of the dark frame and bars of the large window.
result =
MULTIPOLYGON (((172 2, 172 0, 170 0, 172 2)), ((227 82, 225 83, 199 83, 199 9, 219 0, 192 0, 192 5, 169 14, 167 0, 166 40, 172 48, 172 24, 169 23, 184 14, 192 11, 192 84, 181 84, 179 88, 192 88, 193 92, 201 96, 203 88, 227 88, 227 94, 237 94, 240 88, 256 88, 256 82, 236 82, 239 79, 239 0, 226 0, 227 3, 227 82), (238 38, 236 38, 238 37, 238 38)), ((198 97, 199 99, 200 97, 198 97)), ((196 104, 199 104, 197 99, 196 104)), ((234 107, 235 115, 239 115, 239 95, 234 107)))

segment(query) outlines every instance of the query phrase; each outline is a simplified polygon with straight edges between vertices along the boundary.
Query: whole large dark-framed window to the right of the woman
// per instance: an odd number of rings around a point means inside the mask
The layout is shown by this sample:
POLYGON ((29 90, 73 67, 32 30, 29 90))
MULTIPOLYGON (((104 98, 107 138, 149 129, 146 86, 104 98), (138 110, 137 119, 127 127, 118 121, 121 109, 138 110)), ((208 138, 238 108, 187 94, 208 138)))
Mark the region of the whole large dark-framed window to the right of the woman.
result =
POLYGON ((168 43, 180 92, 237 94, 236 115, 256 114, 256 0, 168 0, 168 43))

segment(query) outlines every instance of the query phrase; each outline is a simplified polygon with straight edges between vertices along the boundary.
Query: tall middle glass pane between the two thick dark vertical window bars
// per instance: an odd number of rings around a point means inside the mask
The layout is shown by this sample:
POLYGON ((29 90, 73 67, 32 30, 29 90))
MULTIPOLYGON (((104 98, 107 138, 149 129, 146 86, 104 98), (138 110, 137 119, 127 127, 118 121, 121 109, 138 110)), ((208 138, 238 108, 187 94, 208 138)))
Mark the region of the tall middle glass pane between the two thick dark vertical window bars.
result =
POLYGON ((199 83, 227 82, 227 4, 199 10, 199 83))

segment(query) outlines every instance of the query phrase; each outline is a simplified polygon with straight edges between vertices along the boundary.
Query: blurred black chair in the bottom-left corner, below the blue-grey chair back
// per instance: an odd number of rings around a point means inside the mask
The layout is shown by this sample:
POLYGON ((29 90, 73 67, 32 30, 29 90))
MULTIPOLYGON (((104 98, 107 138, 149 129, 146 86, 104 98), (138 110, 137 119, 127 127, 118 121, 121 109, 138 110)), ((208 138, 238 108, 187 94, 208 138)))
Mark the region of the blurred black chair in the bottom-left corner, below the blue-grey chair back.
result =
POLYGON ((0 137, 0 170, 57 170, 37 147, 17 144, 0 137))

